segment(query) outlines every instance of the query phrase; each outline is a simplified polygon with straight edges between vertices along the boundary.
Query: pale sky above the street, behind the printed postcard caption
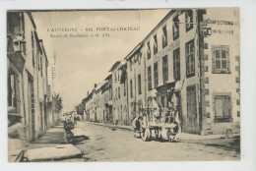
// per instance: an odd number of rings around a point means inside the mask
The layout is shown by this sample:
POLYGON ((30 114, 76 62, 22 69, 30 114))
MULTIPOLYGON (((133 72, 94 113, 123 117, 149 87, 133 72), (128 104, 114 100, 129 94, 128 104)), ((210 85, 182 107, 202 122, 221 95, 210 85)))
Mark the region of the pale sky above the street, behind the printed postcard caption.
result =
POLYGON ((32 12, 38 37, 43 40, 49 68, 56 52, 54 89, 63 98, 63 111, 74 110, 88 91, 110 74, 108 71, 112 65, 124 59, 168 12, 165 9, 32 12), (139 27, 139 30, 96 30, 127 27, 139 27), (78 31, 49 31, 51 28, 78 28, 78 31), (94 31, 86 31, 86 28, 93 28, 94 31), (88 37, 50 37, 50 34, 65 33, 88 34, 88 37), (109 33, 109 36, 103 37, 103 33, 109 33))

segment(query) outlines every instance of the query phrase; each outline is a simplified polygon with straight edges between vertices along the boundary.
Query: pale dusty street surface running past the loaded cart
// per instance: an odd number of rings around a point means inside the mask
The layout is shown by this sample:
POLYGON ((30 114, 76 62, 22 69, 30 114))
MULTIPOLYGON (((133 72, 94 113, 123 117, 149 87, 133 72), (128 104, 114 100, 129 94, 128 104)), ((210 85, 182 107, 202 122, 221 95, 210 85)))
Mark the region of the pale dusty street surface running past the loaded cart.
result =
POLYGON ((133 132, 78 122, 75 136, 85 135, 88 140, 76 144, 83 152, 82 158, 61 161, 193 161, 239 160, 240 154, 222 145, 232 140, 205 140, 181 142, 143 142, 133 137, 133 132), (219 145, 214 145, 215 142, 219 145), (213 144, 213 145, 210 145, 213 144))

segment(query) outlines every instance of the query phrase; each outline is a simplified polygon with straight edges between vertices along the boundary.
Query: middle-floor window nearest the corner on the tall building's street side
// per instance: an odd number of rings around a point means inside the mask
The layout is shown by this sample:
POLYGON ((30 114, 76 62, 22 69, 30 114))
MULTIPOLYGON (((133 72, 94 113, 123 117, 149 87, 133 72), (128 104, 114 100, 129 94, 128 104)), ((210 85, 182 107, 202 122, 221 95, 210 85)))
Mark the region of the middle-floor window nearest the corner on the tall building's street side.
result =
POLYGON ((195 47, 194 40, 186 43, 186 69, 187 77, 195 76, 195 47))

